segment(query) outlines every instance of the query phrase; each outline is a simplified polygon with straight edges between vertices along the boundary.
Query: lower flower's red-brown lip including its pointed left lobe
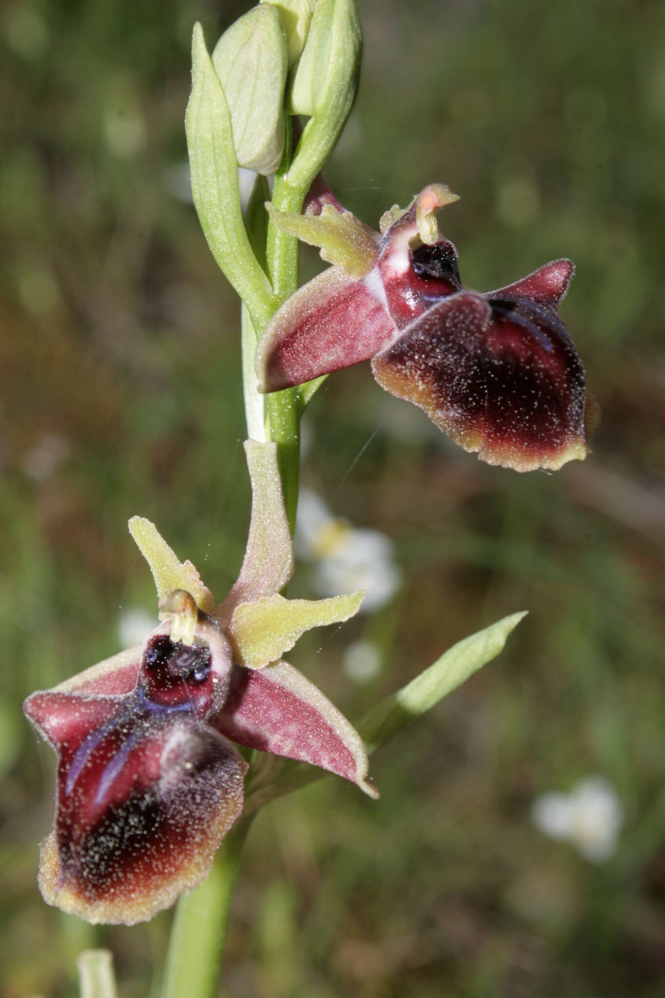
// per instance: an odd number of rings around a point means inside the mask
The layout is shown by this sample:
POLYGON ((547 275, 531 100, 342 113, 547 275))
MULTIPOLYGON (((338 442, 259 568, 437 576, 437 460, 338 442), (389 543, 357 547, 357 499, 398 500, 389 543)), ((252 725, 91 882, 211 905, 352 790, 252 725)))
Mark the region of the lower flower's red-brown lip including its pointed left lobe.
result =
MULTIPOLYGON (((149 650, 148 675, 185 660, 188 677, 209 672, 206 648, 161 641, 149 650)), ((191 696, 190 680, 176 684, 171 703, 152 699, 141 674, 120 697, 45 693, 26 703, 58 752, 40 887, 65 911, 92 921, 151 917, 202 880, 240 813, 246 763, 205 724, 205 699, 191 696)))

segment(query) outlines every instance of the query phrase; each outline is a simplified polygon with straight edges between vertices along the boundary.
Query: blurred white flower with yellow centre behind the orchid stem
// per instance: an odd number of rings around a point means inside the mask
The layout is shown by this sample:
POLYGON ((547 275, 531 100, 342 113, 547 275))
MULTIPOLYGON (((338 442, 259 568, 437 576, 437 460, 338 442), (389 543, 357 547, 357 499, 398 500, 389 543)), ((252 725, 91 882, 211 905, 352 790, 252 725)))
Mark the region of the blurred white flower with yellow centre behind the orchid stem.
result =
POLYGON ((361 613, 384 607, 402 585, 391 539, 335 517, 309 489, 302 489, 298 499, 294 548, 298 558, 314 563, 320 596, 364 589, 361 613))

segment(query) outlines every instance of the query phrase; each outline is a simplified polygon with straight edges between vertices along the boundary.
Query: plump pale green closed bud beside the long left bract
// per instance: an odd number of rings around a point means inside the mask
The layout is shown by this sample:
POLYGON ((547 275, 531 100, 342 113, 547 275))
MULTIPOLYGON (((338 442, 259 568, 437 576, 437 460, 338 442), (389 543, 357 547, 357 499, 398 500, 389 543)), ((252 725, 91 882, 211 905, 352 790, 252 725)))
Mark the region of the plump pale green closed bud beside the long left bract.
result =
POLYGON ((284 149, 286 34, 276 7, 253 7, 228 28, 212 53, 231 116, 238 166, 273 174, 284 149))

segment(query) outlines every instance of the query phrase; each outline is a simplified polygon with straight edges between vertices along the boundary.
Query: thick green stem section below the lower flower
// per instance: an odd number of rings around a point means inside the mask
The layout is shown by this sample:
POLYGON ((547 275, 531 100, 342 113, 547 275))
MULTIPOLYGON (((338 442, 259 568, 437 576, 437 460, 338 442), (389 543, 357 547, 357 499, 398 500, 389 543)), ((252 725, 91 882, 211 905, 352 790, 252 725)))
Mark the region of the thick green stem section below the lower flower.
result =
POLYGON ((163 998, 215 998, 228 915, 251 818, 229 831, 204 883, 177 902, 166 956, 163 998))

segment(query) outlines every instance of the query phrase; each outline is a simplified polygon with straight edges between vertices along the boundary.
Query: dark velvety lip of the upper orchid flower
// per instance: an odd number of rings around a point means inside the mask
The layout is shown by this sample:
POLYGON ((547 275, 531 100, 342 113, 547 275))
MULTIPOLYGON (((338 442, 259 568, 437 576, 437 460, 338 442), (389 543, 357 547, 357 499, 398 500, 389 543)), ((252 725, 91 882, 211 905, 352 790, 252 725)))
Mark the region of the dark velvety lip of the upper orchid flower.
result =
POLYGON ((373 367, 380 384, 490 463, 555 468, 585 453, 584 370, 552 308, 463 292, 421 316, 373 367))

